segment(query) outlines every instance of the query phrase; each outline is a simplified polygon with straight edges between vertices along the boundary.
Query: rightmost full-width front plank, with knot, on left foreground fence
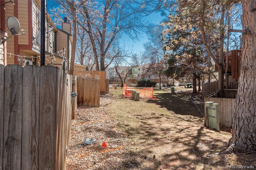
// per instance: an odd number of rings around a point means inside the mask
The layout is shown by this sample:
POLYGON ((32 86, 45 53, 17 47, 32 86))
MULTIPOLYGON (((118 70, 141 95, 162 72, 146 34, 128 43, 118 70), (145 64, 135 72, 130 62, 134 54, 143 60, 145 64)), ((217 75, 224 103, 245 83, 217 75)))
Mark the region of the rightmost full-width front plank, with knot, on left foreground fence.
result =
POLYGON ((56 72, 54 66, 40 68, 39 169, 56 169, 56 72))

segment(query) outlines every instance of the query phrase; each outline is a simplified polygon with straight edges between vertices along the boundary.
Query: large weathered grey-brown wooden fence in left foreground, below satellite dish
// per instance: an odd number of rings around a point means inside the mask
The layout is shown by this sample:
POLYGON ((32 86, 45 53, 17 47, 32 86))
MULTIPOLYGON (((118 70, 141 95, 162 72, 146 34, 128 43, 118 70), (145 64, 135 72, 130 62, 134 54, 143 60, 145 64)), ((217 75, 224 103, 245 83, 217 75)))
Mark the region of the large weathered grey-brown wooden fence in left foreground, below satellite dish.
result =
POLYGON ((0 169, 64 170, 72 78, 54 66, 0 65, 0 169))

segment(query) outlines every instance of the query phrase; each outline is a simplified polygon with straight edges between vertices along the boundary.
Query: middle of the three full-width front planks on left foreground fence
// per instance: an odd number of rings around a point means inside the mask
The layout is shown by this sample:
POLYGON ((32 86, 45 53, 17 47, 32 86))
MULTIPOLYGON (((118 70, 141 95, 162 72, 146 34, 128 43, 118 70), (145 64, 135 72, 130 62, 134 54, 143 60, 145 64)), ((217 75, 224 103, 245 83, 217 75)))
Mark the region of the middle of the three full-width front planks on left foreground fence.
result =
POLYGON ((22 170, 38 169, 40 68, 23 68, 22 170))

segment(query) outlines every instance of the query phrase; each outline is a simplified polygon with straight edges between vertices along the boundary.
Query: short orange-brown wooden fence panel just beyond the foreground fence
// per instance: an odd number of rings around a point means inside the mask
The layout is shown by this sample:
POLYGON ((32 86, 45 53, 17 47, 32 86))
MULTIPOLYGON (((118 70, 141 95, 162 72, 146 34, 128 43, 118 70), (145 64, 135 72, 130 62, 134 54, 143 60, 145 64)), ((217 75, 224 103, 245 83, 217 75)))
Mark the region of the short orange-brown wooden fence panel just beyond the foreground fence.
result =
POLYGON ((100 80, 77 76, 77 105, 100 107, 100 80))

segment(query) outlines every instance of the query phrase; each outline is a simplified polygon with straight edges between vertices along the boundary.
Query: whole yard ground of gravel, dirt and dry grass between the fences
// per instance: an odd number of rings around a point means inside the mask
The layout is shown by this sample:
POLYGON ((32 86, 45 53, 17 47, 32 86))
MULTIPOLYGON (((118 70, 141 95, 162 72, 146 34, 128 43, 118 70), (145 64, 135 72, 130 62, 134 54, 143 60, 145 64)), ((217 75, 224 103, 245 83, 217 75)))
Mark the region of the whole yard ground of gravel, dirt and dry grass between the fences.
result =
POLYGON ((67 170, 228 170, 256 168, 256 154, 225 150, 230 128, 204 127, 201 94, 155 89, 155 100, 130 100, 110 88, 100 107, 79 107, 72 120, 67 170), (201 110, 201 111, 200 111, 201 110), (85 139, 92 145, 78 147, 85 139), (102 143, 107 143, 107 148, 102 143), (213 154, 212 156, 209 156, 213 154))

